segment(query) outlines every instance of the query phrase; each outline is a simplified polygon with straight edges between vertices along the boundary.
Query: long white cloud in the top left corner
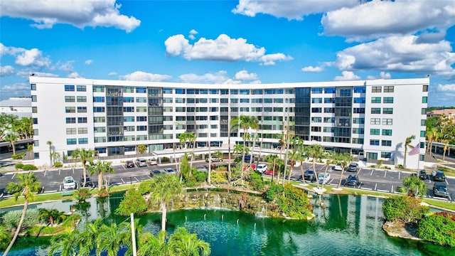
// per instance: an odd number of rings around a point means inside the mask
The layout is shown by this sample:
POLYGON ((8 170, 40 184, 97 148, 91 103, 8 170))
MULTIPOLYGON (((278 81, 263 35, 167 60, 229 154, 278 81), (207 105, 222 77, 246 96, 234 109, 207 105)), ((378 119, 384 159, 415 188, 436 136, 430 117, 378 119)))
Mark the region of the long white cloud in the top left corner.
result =
POLYGON ((120 14, 120 4, 115 0, 35 0, 0 1, 1 16, 27 18, 35 21, 36 28, 52 28, 56 23, 67 23, 78 28, 85 26, 115 27, 128 33, 137 28, 141 21, 133 16, 120 14))

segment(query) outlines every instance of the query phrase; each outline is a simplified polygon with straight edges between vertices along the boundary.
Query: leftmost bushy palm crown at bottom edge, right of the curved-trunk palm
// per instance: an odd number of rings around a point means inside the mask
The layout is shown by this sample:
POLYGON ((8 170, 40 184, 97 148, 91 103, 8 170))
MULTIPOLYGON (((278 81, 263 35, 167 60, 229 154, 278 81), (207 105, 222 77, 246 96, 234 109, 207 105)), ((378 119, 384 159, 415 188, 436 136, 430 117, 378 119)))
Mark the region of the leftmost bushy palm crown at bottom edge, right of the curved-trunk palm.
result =
POLYGON ((60 256, 75 256, 79 247, 80 234, 79 230, 65 230, 63 233, 54 235, 50 239, 48 255, 52 256, 60 251, 60 256))

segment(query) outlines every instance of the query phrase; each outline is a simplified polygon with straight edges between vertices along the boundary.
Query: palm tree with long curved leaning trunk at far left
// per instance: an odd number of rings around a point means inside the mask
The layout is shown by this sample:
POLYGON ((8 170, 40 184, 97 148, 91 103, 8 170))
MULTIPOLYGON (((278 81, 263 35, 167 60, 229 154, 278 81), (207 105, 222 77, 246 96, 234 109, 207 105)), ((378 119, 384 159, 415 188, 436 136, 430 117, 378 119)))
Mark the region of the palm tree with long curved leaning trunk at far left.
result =
POLYGON ((23 196, 25 201, 23 202, 21 220, 19 220, 16 232, 14 233, 13 239, 6 248, 4 256, 6 256, 9 250, 11 250, 11 247, 13 246, 14 242, 16 242, 17 236, 21 231, 23 219, 26 217, 28 201, 33 201, 35 199, 35 193, 41 191, 41 183, 38 181, 38 179, 36 179, 36 176, 33 174, 33 172, 29 172, 27 174, 17 174, 16 179, 18 182, 8 183, 8 185, 6 185, 6 190, 12 194, 15 203, 17 202, 19 196, 23 196))

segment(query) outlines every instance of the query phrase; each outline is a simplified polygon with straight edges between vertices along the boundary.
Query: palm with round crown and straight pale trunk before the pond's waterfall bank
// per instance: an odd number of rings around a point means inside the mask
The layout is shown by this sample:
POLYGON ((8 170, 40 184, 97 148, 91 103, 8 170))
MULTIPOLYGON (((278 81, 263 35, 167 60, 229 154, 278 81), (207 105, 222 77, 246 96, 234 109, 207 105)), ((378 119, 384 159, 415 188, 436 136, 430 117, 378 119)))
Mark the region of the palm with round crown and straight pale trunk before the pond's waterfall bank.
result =
POLYGON ((161 204, 161 230, 166 230, 167 204, 182 193, 181 183, 175 175, 160 174, 151 180, 151 191, 151 200, 161 204))

